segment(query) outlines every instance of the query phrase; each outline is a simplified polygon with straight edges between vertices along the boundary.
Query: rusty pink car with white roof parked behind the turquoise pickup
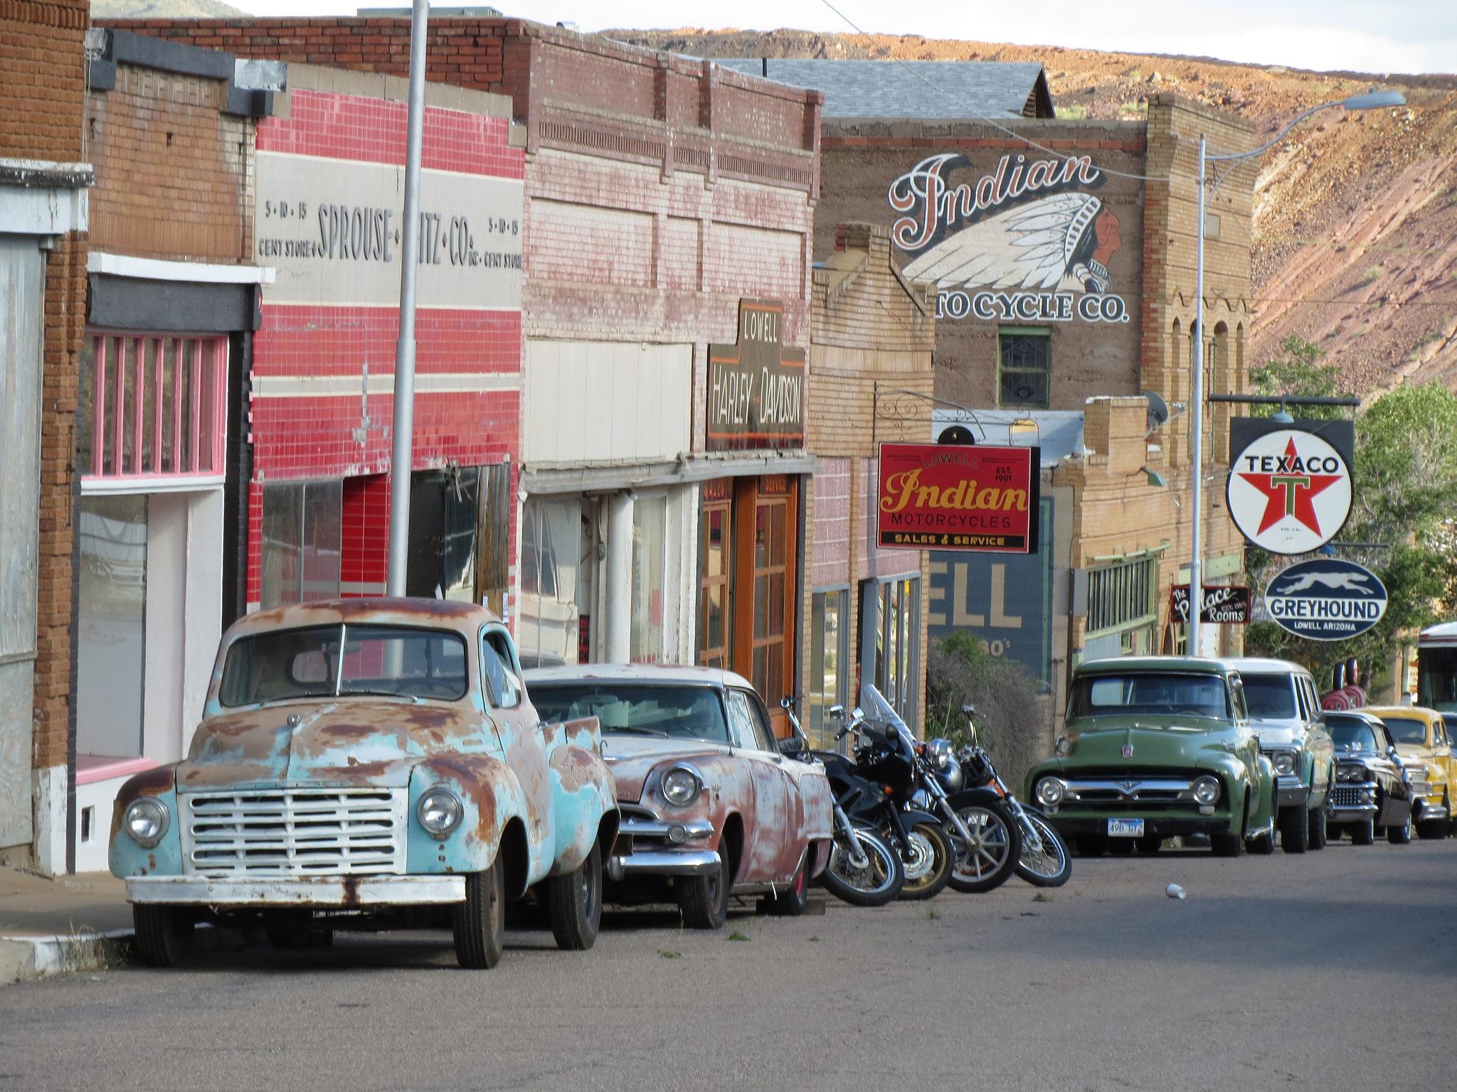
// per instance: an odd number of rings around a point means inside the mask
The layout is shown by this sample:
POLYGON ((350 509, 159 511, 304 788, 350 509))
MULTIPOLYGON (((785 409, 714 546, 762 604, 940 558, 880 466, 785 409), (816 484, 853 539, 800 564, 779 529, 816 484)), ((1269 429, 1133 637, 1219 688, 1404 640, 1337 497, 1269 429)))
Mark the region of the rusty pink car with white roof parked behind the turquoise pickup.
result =
POLYGON ((699 667, 590 664, 526 673, 552 719, 594 716, 622 828, 608 862, 613 901, 672 901, 717 929, 730 895, 804 910, 829 860, 825 767, 779 751, 743 677, 699 667))

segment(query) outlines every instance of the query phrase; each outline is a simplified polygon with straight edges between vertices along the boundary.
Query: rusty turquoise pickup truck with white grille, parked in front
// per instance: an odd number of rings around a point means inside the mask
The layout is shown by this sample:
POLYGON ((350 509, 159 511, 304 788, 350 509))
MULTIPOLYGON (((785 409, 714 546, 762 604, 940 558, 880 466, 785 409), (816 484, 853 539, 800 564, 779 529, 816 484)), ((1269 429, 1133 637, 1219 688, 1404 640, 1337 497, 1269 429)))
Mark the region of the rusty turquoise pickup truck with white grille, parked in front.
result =
POLYGON ((494 614, 335 600, 223 635, 188 757, 117 798, 111 871, 153 967, 207 922, 280 948, 449 926, 484 968, 527 893, 559 946, 592 946, 618 818, 597 722, 541 722, 494 614))

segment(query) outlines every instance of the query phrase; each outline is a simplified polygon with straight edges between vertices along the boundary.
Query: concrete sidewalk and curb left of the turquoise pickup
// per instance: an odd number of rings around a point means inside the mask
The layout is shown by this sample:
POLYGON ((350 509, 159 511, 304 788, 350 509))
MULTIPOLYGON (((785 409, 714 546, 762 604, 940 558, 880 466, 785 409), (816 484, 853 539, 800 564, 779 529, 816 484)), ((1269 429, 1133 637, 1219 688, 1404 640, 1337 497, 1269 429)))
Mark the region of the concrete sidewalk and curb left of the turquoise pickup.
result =
POLYGON ((122 881, 0 868, 0 984, 108 965, 131 936, 122 881))

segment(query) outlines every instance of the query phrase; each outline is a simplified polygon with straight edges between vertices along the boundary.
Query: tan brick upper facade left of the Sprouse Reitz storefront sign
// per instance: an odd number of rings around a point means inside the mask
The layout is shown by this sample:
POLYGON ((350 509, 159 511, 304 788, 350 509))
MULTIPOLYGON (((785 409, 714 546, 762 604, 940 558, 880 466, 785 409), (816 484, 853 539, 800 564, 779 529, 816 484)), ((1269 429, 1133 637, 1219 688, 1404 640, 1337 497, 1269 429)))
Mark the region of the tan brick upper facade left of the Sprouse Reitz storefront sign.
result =
POLYGON ((87 92, 93 249, 252 259, 254 127, 219 112, 226 93, 221 80, 130 64, 112 90, 87 92))

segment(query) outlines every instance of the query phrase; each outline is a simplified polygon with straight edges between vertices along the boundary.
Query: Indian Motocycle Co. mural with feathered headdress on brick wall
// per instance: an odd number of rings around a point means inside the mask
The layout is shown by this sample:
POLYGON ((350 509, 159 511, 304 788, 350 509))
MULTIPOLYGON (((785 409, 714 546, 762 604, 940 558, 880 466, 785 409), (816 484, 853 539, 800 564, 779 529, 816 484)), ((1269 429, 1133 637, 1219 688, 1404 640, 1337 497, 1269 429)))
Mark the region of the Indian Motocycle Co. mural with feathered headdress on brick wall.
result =
POLYGON ((890 229, 912 255, 906 277, 940 288, 938 319, 1001 322, 1129 322, 1107 291, 1118 252, 1118 217, 1099 189, 1104 175, 1087 156, 1027 162, 1002 156, 975 181, 966 156, 921 160, 890 183, 890 229))

